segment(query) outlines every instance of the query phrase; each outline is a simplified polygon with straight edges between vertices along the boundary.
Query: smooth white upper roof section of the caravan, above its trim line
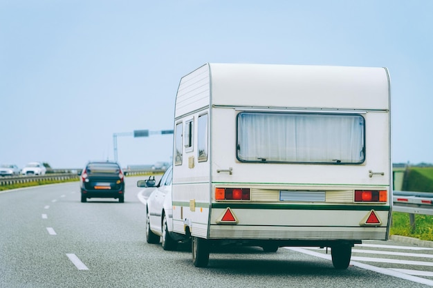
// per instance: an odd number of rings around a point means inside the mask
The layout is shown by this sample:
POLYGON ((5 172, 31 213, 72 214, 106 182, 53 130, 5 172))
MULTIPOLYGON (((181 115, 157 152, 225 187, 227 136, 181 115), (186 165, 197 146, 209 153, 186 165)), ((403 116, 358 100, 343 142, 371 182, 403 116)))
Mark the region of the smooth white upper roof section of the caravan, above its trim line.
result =
POLYGON ((387 110, 388 78, 386 68, 205 64, 181 79, 175 117, 192 104, 387 110))

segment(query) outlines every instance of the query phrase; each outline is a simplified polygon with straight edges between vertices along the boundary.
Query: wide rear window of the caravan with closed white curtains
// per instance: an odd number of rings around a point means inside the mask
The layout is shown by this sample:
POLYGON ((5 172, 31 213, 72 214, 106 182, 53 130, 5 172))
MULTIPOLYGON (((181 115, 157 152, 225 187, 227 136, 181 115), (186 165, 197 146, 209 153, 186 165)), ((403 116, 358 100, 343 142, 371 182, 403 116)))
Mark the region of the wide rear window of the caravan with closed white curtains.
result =
POLYGON ((361 115, 241 112, 237 115, 241 162, 361 164, 365 119, 361 115))

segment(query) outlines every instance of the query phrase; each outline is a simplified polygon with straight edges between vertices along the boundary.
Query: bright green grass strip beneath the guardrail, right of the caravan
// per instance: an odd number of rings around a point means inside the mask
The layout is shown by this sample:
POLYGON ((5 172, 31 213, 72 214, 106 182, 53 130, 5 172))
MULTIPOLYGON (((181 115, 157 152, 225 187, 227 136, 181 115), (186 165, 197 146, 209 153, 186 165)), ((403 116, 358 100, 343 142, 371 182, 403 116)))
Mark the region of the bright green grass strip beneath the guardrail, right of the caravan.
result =
POLYGON ((393 212, 390 234, 433 241, 433 215, 415 214, 415 224, 412 230, 408 213, 393 212))

